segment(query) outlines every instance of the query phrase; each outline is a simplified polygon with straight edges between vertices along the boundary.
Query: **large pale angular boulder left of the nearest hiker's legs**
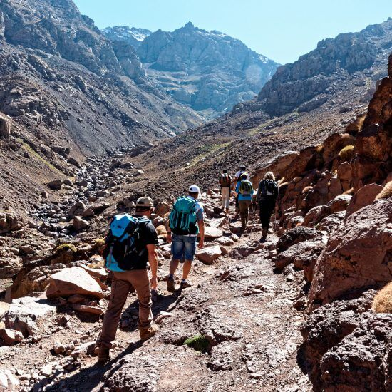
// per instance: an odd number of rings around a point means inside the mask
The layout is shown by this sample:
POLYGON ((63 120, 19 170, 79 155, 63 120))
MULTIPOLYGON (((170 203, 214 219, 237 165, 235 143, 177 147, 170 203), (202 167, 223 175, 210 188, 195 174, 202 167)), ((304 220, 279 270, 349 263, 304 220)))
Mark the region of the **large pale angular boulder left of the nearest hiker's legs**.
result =
POLYGON ((100 285, 81 267, 66 268, 51 275, 49 287, 46 290, 48 298, 73 294, 94 296, 98 299, 103 297, 100 285))

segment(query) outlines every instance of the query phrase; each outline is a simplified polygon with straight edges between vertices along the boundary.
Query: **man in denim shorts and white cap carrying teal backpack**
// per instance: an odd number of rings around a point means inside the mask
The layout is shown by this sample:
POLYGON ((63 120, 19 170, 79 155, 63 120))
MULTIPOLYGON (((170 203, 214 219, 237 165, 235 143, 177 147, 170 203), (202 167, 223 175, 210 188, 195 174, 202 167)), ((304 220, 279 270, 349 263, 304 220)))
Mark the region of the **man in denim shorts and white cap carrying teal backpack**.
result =
POLYGON ((178 263, 182 261, 184 265, 180 289, 192 286, 187 277, 195 257, 197 234, 200 236, 199 248, 204 247, 204 212, 202 204, 197 200, 199 193, 200 188, 191 185, 188 195, 179 197, 170 212, 170 227, 167 230, 167 242, 172 243, 172 261, 167 277, 169 292, 175 291, 174 274, 178 263))

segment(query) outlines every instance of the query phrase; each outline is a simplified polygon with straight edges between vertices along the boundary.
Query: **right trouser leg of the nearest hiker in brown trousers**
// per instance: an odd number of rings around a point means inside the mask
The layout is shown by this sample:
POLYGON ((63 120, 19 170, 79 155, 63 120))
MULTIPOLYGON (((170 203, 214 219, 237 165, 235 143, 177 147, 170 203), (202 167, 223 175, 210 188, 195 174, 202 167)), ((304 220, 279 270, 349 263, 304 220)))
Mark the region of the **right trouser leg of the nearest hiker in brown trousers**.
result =
POLYGON ((153 313, 151 306, 151 288, 150 279, 148 277, 147 269, 134 269, 133 271, 125 272, 128 274, 130 283, 135 287, 136 294, 139 299, 139 322, 140 328, 148 328, 153 324, 153 313))

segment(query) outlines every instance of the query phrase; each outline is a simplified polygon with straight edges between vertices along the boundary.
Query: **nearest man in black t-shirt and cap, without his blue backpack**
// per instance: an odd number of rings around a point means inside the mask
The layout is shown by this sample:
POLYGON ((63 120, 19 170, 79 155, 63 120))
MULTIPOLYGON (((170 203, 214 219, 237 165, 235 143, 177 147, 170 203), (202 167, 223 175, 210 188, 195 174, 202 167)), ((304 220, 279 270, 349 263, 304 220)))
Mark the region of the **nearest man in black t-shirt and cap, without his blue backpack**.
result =
POLYGON ((115 339, 118 321, 130 289, 135 289, 136 294, 138 294, 140 339, 150 339, 157 331, 151 311, 151 288, 156 289, 157 287, 158 254, 155 246, 158 244, 158 236, 151 221, 146 219, 152 211, 153 200, 150 197, 140 197, 136 202, 134 216, 141 221, 138 227, 140 236, 138 242, 136 242, 141 257, 129 271, 113 272, 108 310, 103 319, 100 339, 97 341, 99 346, 98 361, 100 362, 106 362, 110 359, 109 351, 112 341, 115 339), (148 262, 151 267, 151 279, 148 277, 148 262))

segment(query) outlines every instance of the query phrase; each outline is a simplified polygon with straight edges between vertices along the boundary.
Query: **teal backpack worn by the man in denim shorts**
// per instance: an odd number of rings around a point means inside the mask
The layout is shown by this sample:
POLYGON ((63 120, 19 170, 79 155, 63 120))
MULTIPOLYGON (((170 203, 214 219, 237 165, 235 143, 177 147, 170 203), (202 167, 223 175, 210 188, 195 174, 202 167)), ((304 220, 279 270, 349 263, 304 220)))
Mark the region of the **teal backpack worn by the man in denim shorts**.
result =
POLYGON ((174 234, 187 235, 198 234, 196 217, 196 200, 189 196, 179 197, 172 208, 169 215, 170 229, 174 234))

